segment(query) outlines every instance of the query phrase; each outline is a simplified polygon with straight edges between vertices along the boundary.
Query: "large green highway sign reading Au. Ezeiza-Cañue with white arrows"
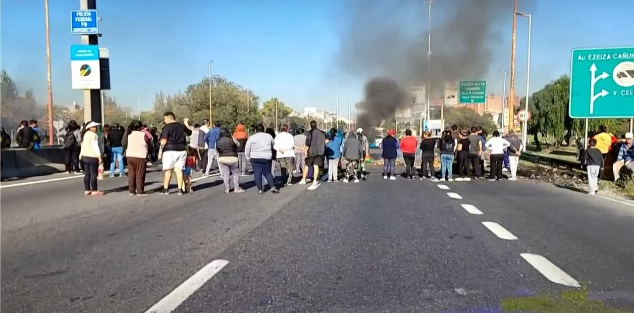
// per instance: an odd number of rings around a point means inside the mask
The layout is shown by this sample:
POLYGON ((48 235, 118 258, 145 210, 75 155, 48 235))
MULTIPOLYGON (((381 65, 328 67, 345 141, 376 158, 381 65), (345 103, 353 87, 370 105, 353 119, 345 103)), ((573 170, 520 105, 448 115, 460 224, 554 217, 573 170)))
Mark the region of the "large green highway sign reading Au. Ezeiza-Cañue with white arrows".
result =
POLYGON ((634 47, 574 49, 569 106, 572 118, 634 117, 634 47))

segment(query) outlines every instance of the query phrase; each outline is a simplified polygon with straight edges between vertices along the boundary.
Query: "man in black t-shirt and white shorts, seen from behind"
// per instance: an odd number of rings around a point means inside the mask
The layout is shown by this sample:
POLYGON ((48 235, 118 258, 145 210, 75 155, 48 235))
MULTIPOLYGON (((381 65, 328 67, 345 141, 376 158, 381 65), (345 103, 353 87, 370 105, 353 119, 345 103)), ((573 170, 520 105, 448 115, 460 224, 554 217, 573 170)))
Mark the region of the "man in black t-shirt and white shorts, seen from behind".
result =
POLYGON ((169 181, 172 179, 172 170, 176 174, 178 194, 185 192, 183 186, 183 169, 187 159, 187 136, 191 136, 191 130, 185 125, 176 122, 176 115, 165 112, 163 115, 165 127, 160 134, 159 160, 163 163, 163 190, 160 195, 169 195, 169 181))

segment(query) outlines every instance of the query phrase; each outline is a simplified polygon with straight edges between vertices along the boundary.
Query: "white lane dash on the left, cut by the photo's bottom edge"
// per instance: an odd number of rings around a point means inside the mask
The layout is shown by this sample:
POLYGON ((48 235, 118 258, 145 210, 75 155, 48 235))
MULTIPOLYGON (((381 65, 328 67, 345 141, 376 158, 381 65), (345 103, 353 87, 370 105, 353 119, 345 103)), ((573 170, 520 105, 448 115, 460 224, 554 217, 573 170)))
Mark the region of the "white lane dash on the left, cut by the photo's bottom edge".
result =
POLYGON ((176 289, 172 290, 171 293, 162 298, 150 309, 146 310, 145 313, 170 313, 176 310, 181 303, 187 300, 198 288, 207 283, 209 279, 214 277, 214 275, 227 264, 229 264, 228 260, 213 260, 184 281, 180 286, 176 287, 176 289))

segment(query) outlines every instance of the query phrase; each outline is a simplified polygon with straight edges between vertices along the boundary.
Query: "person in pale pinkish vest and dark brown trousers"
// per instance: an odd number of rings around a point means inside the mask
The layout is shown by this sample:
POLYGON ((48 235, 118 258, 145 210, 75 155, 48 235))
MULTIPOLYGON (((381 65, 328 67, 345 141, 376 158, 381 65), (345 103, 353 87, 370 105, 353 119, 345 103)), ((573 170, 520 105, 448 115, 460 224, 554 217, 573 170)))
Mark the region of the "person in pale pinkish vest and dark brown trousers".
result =
POLYGON ((131 196, 145 196, 145 174, 147 170, 148 136, 143 131, 143 123, 133 120, 127 128, 123 147, 127 157, 127 190, 131 196))

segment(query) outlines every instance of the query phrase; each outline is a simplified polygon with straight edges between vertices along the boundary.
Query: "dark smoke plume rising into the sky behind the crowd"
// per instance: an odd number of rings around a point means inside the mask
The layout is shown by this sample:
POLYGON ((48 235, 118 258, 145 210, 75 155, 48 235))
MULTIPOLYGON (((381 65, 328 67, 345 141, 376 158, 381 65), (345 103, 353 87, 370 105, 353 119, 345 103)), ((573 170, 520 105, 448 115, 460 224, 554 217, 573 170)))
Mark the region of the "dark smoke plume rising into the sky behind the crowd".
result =
POLYGON ((500 20, 510 20, 512 0, 434 0, 431 70, 427 70, 427 4, 418 0, 358 0, 344 9, 349 25, 340 35, 337 65, 368 80, 359 111, 360 127, 394 116, 407 103, 403 86, 431 80, 431 96, 444 94, 447 82, 484 79, 500 20), (433 27, 436 25, 436 27, 433 27), (373 77, 384 77, 373 79, 373 77))

